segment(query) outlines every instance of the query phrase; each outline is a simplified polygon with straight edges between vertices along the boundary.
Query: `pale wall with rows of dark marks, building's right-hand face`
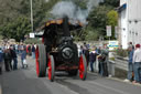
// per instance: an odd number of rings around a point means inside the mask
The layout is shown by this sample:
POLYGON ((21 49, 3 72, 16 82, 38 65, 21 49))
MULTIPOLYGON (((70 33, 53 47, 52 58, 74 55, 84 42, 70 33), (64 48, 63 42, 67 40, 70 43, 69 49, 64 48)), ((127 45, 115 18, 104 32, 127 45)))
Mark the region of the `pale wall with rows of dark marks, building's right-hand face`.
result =
POLYGON ((128 22, 129 25, 129 42, 133 42, 133 44, 141 44, 141 0, 129 0, 128 1, 128 22))

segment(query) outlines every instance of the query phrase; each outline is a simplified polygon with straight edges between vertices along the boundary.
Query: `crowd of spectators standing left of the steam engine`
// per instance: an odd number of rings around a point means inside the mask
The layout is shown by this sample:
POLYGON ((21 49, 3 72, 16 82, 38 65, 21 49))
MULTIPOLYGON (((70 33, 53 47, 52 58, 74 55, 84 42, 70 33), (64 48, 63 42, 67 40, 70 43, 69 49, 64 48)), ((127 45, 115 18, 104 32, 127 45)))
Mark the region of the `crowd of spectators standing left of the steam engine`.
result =
POLYGON ((28 67, 26 55, 35 59, 35 44, 6 43, 0 45, 0 74, 2 74, 2 66, 7 72, 18 70, 18 56, 21 59, 21 67, 28 67))

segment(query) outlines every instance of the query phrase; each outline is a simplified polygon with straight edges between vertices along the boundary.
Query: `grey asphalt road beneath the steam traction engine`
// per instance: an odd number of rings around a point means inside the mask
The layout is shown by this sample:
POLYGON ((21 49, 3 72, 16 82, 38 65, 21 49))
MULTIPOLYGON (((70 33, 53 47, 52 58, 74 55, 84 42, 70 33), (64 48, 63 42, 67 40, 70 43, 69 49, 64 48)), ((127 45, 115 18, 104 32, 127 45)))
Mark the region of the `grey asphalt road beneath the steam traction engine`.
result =
MULTIPOLYGON (((35 61, 28 58, 29 67, 0 75, 2 94, 141 94, 141 86, 88 73, 87 80, 56 73, 55 82, 36 77, 35 61)), ((0 90, 0 92, 1 92, 0 90)))

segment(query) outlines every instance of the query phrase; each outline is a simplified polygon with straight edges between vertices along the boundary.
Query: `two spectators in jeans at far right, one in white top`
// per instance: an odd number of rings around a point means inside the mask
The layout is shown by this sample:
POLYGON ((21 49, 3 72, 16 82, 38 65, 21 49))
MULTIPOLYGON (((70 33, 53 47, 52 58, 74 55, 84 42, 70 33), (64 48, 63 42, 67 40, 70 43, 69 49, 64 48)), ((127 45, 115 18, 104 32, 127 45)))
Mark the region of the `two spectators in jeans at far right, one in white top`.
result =
POLYGON ((128 79, 126 81, 141 84, 141 45, 129 42, 128 51, 128 79))

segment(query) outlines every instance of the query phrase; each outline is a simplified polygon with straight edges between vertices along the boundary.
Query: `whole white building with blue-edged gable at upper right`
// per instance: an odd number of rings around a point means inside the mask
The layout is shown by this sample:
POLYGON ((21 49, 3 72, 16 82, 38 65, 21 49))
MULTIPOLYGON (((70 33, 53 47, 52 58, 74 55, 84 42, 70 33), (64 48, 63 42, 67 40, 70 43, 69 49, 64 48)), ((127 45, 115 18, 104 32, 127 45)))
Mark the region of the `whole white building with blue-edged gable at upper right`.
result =
POLYGON ((119 42, 123 49, 128 43, 141 44, 141 0, 120 0, 119 42))

